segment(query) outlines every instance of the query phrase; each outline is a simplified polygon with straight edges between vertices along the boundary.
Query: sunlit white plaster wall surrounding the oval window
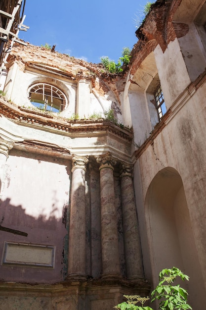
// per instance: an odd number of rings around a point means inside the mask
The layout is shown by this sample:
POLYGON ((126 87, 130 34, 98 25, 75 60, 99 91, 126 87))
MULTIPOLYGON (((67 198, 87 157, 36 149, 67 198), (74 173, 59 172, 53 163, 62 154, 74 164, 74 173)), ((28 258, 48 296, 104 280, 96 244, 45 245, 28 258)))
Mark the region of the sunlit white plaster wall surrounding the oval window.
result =
MULTIPOLYGON (((74 115, 78 115, 80 118, 89 118, 95 113, 100 113, 104 117, 104 113, 111 108, 112 102, 116 102, 114 95, 109 90, 107 94, 104 94, 100 88, 92 90, 90 80, 82 79, 77 83, 55 75, 52 77, 51 74, 45 72, 25 69, 24 64, 17 62, 10 64, 6 82, 3 78, 1 80, 2 90, 6 93, 6 98, 9 101, 30 108, 34 108, 29 100, 28 89, 31 85, 48 83, 56 86, 63 91, 68 100, 65 109, 59 113, 65 118, 71 118, 74 115)), ((97 78, 96 85, 98 84, 99 79, 97 78)), ((121 110, 119 109, 115 113, 118 121, 123 123, 121 110)))

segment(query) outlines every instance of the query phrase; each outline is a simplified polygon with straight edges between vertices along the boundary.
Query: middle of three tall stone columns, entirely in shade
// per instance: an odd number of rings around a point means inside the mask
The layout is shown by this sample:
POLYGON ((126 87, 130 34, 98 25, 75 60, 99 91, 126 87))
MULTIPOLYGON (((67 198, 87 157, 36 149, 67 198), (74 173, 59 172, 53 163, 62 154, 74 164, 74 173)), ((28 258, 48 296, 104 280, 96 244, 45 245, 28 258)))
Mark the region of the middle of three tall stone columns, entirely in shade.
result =
POLYGON ((96 158, 100 164, 102 277, 120 277, 117 210, 113 170, 116 161, 107 154, 96 158))

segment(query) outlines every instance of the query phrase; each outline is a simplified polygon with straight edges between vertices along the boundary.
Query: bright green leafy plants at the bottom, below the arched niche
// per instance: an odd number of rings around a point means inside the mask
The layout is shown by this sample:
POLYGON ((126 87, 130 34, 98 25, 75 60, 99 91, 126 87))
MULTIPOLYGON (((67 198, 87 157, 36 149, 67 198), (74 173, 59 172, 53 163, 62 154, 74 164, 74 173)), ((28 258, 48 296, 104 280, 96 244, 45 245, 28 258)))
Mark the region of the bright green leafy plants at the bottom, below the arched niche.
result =
MULTIPOLYGON (((180 277, 183 281, 189 280, 189 277, 181 272, 180 269, 172 267, 171 269, 163 269, 159 274, 159 284, 151 293, 153 299, 159 301, 159 309, 161 310, 192 310, 187 304, 188 293, 179 284, 172 285, 174 280, 180 277), (165 284, 165 282, 167 284, 165 284)), ((115 309, 120 310, 153 310, 151 307, 144 306, 144 303, 149 300, 149 297, 141 297, 138 295, 124 295, 127 299, 117 306, 115 309), (141 306, 137 306, 141 303, 141 306)))

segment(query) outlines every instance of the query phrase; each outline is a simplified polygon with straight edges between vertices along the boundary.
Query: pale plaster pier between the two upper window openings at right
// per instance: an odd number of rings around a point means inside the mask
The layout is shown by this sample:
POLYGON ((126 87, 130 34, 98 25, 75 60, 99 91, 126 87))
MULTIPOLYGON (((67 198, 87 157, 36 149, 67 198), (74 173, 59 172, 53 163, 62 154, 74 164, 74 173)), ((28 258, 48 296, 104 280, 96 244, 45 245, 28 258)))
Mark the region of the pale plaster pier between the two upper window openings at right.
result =
POLYGON ((154 54, 168 110, 190 83, 190 78, 177 39, 168 44, 164 53, 158 45, 154 54))

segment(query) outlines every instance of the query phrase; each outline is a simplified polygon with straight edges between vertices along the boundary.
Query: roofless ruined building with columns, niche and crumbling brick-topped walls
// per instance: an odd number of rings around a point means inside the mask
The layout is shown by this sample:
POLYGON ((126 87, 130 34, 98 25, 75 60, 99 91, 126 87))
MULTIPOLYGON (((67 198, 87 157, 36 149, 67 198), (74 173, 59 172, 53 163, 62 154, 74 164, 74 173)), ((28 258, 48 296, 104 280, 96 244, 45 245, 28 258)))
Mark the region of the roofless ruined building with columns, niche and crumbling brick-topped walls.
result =
POLYGON ((160 270, 176 266, 190 276, 189 304, 202 310, 205 0, 153 4, 116 75, 16 42, 7 2, 0 309, 112 310, 123 294, 149 295, 160 270))

